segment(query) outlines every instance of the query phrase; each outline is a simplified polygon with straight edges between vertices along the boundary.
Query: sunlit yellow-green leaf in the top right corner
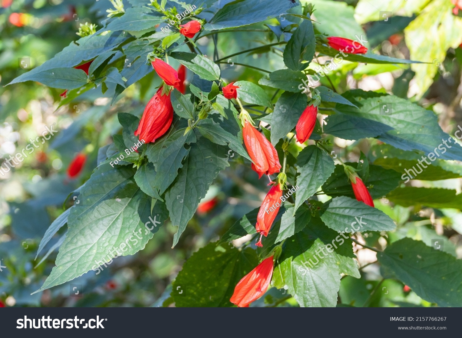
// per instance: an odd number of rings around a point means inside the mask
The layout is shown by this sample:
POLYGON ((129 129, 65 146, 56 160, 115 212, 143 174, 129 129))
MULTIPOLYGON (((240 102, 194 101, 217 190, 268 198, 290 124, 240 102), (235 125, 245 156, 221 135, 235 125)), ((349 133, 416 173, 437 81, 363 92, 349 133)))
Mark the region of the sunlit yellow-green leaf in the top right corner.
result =
POLYGON ((452 8, 451 1, 433 0, 404 30, 410 57, 429 62, 411 65, 415 71, 417 98, 432 84, 447 50, 457 48, 462 42, 462 18, 454 15, 452 8))

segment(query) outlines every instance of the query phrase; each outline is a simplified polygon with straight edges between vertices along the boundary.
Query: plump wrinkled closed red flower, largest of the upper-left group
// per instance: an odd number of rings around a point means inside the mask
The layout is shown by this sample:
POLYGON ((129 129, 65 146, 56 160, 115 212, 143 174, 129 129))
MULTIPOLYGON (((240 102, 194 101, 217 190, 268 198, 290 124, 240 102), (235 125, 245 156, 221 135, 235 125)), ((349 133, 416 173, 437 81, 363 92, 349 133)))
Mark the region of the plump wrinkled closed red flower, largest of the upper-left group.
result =
POLYGON ((162 95, 162 87, 152 96, 146 105, 135 136, 145 143, 154 142, 169 130, 173 120, 173 107, 170 102, 170 93, 162 95))

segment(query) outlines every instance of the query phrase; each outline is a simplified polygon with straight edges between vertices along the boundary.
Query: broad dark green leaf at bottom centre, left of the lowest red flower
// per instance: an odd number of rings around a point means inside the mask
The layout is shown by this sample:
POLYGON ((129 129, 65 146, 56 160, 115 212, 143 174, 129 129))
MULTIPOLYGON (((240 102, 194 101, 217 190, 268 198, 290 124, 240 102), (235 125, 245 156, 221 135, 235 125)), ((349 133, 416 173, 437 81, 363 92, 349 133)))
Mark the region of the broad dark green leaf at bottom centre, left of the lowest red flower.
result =
POLYGON ((184 263, 173 283, 176 307, 231 307, 240 279, 258 265, 255 250, 209 243, 184 263))

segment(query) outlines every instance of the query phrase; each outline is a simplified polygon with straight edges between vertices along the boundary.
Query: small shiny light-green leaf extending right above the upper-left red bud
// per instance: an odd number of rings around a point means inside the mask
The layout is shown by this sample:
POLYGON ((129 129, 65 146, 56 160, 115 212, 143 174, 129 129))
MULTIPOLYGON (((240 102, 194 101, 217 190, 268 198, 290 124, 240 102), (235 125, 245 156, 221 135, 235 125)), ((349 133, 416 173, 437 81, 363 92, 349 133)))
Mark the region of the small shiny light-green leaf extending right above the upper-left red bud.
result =
POLYGON ((220 68, 212 60, 193 53, 173 52, 170 54, 173 59, 178 60, 189 70, 199 75, 204 80, 218 80, 220 78, 220 68))

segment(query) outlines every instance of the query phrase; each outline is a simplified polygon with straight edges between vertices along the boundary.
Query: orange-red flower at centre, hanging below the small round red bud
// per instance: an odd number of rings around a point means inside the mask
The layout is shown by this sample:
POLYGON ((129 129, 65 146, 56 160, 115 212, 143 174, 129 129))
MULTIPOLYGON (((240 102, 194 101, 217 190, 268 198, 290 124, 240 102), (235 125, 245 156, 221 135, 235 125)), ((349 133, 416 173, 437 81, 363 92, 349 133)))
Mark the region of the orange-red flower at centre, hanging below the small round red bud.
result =
POLYGON ((252 163, 252 169, 258 173, 258 177, 261 178, 263 174, 272 175, 279 172, 281 165, 278 153, 271 142, 247 120, 242 131, 245 148, 255 163, 252 163))

